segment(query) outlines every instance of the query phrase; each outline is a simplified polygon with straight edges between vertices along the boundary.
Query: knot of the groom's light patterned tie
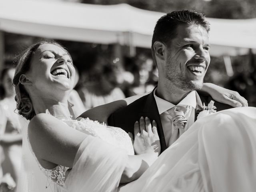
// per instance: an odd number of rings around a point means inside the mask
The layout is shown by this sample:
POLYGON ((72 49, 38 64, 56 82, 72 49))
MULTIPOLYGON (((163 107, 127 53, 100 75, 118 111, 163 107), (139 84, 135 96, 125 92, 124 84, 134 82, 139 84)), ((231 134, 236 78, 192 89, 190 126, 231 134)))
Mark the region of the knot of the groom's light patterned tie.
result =
POLYGON ((188 107, 178 105, 173 108, 170 108, 169 110, 167 110, 167 112, 172 117, 172 122, 174 125, 182 124, 184 126, 184 124, 187 122, 187 119, 185 118, 187 110, 188 107))

